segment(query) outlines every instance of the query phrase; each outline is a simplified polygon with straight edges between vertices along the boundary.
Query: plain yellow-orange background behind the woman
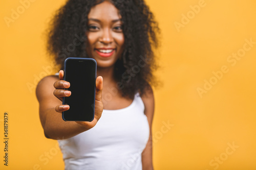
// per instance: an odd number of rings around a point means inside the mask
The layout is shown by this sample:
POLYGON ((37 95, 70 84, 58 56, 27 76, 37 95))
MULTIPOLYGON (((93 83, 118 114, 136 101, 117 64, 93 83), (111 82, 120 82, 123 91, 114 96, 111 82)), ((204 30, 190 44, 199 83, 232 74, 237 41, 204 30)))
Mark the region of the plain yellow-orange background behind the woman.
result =
MULTIPOLYGON (((155 169, 256 169, 256 44, 235 65, 227 61, 243 49, 245 39, 256 42, 256 2, 205 0, 195 15, 190 6, 199 0, 146 2, 162 30, 157 77, 163 85, 154 90, 155 169), (175 23, 187 14, 189 22, 178 30, 175 23), (223 65, 228 72, 214 78, 212 71, 223 65), (216 84, 200 96, 198 88, 210 80, 216 84), (217 157, 224 161, 216 163, 217 157)), ((31 2, 8 27, 4 17, 11 18, 21 4, 0 2, 0 169, 64 168, 57 142, 44 137, 35 96, 39 79, 56 71, 44 31, 64 3, 31 2), (8 167, 3 165, 4 112, 9 115, 8 167)))

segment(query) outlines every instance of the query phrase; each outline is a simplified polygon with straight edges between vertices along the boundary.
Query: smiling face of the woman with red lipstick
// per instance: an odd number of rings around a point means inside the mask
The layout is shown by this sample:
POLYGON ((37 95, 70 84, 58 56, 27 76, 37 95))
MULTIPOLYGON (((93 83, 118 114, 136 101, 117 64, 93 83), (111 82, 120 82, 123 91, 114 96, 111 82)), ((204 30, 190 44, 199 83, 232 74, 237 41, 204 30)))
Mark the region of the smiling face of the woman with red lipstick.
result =
POLYGON ((94 6, 88 15, 87 54, 98 67, 113 67, 124 48, 121 15, 108 1, 94 6))

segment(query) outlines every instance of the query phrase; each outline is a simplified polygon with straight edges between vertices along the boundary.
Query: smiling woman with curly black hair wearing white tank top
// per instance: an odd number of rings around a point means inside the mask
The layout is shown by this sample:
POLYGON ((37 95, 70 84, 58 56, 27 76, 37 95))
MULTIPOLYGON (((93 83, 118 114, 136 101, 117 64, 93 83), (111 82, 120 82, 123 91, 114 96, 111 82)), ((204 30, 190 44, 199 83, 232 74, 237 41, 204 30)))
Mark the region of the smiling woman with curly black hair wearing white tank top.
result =
POLYGON ((61 69, 68 57, 97 62, 92 122, 62 120, 62 98, 72 95, 62 70, 37 85, 41 125, 58 140, 66 169, 153 169, 153 14, 142 0, 70 0, 51 26, 48 50, 61 69))

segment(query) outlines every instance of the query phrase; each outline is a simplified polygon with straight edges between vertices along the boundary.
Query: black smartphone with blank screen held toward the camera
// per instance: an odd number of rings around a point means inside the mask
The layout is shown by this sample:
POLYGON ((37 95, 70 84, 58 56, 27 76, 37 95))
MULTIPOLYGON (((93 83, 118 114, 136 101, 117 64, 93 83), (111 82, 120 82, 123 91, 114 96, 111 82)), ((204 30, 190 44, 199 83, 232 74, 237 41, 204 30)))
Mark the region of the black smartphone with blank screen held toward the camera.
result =
POLYGON ((63 80, 70 82, 69 97, 63 98, 63 105, 70 109, 62 112, 65 121, 92 122, 95 108, 95 81, 97 63, 91 58, 69 57, 64 62, 63 80))

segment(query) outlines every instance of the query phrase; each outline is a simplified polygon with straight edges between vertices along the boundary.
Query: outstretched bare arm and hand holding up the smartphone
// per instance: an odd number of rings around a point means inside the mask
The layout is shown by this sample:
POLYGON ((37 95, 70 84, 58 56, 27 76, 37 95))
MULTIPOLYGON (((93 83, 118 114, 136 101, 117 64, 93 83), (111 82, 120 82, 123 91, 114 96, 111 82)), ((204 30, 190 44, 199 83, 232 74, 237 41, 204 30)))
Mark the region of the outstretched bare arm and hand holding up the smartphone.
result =
MULTIPOLYGON (((63 96, 70 96, 72 92, 63 90, 65 88, 63 85, 65 81, 61 80, 62 77, 63 71, 60 71, 60 80, 56 76, 48 76, 42 79, 36 88, 41 125, 44 129, 45 136, 51 139, 67 139, 93 128, 103 110, 101 101, 103 80, 102 77, 98 77, 96 79, 94 120, 92 122, 65 122, 62 119, 61 112, 68 110, 69 106, 62 105, 61 101, 63 96), (65 91, 68 94, 65 94, 65 91)), ((68 86, 70 86, 69 83, 68 86)))

